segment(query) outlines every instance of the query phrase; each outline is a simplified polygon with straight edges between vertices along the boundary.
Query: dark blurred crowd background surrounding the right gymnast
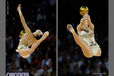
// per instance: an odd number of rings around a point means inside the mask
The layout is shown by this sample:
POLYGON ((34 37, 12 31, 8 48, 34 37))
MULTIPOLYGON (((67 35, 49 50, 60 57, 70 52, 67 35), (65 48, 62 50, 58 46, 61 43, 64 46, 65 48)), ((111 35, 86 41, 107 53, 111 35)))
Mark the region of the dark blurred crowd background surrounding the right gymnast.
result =
POLYGON ((58 16, 58 75, 108 76, 108 0, 58 0, 58 16), (72 24, 77 33, 76 27, 82 18, 81 6, 89 8, 101 57, 85 58, 66 28, 67 24, 72 24))

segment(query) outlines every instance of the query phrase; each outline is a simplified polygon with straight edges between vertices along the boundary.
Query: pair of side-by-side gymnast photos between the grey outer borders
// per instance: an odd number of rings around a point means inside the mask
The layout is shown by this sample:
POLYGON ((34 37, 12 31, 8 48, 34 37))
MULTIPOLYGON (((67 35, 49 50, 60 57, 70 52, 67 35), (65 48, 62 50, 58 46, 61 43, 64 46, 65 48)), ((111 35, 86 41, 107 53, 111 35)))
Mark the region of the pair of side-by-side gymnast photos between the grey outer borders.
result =
POLYGON ((108 0, 6 0, 6 75, 14 73, 108 76, 108 0))

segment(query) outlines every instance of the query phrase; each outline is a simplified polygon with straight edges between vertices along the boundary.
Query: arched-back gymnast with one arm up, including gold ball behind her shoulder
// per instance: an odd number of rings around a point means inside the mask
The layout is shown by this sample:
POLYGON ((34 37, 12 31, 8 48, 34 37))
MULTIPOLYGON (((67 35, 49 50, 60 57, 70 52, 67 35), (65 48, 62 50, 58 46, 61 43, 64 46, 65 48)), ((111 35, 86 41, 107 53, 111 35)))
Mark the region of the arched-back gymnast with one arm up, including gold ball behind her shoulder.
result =
POLYGON ((18 5, 17 11, 19 12, 20 20, 24 27, 25 33, 23 31, 20 32, 19 37, 21 39, 19 41, 19 45, 16 51, 23 58, 28 58, 30 54, 32 54, 35 51, 35 49, 39 46, 39 44, 47 38, 49 32, 47 31, 43 34, 40 30, 36 30, 34 33, 32 33, 29 27, 27 26, 23 14, 21 12, 21 4, 18 5), (39 40, 35 38, 36 36, 41 35, 42 37, 39 40))

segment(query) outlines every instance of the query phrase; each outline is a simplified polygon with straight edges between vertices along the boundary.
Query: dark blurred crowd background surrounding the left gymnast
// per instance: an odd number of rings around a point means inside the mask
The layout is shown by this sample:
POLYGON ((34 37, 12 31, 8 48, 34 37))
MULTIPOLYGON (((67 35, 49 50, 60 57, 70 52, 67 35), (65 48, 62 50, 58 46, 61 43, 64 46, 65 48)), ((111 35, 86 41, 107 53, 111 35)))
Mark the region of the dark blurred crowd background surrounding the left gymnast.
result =
POLYGON ((29 72, 30 76, 55 76, 56 74, 56 0, 6 0, 6 72, 29 72), (35 52, 23 59, 16 49, 19 33, 23 30, 17 6, 28 27, 49 31, 49 37, 35 52))

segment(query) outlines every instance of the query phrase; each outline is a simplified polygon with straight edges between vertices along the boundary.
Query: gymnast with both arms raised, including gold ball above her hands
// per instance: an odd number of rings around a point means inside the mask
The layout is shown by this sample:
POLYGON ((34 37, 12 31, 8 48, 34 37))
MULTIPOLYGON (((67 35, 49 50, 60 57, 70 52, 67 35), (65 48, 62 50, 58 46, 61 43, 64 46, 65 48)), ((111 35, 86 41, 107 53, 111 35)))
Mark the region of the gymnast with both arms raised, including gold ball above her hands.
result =
POLYGON ((67 25, 67 29, 72 33, 75 42, 81 47, 85 57, 101 56, 101 49, 94 38, 94 25, 88 15, 88 7, 82 6, 80 14, 83 18, 77 26, 78 35, 71 24, 67 25))

